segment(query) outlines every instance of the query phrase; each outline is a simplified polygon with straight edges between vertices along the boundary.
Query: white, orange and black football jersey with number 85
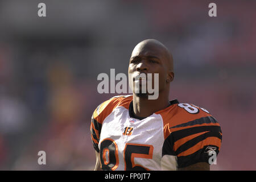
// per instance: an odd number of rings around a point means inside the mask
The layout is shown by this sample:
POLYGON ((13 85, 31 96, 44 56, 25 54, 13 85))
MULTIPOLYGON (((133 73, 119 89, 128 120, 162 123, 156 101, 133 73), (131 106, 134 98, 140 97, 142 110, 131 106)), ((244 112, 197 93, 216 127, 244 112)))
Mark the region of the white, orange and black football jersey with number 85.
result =
POLYGON ((131 95, 99 105, 90 133, 104 170, 177 170, 208 163, 222 139, 219 123, 201 107, 174 100, 166 109, 136 118, 131 95))

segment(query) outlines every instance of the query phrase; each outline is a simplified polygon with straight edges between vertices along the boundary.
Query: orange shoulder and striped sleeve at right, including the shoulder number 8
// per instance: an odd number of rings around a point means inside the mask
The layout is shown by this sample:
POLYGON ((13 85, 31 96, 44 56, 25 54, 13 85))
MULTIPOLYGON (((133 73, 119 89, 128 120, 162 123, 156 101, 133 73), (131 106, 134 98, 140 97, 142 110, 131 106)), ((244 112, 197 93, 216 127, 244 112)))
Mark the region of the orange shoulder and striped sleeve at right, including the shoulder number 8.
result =
POLYGON ((208 162, 210 151, 221 147, 222 132, 217 120, 203 107, 179 103, 170 107, 164 121, 163 155, 177 156, 178 166, 208 162), (171 147, 170 147, 171 146, 171 147))

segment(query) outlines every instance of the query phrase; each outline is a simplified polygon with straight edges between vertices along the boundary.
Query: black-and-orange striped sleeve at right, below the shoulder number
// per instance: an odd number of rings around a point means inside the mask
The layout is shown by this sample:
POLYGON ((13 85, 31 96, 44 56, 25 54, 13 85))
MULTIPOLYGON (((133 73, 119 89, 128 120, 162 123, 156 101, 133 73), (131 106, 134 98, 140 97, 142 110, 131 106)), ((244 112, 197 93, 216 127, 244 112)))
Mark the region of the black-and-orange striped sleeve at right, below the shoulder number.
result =
POLYGON ((221 128, 211 115, 170 128, 163 155, 176 156, 177 168, 199 162, 212 164, 221 147, 221 128))

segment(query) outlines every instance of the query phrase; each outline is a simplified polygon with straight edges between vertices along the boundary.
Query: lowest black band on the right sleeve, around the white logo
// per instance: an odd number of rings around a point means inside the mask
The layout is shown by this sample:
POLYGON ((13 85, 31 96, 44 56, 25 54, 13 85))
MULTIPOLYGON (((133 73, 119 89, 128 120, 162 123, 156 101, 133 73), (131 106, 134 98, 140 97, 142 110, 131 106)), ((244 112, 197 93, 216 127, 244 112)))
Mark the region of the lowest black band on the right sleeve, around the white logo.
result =
MULTIPOLYGON (((217 148, 216 155, 218 155, 219 150, 218 150, 217 146, 214 146, 214 145, 208 145, 208 146, 216 147, 217 148)), ((205 152, 205 150, 208 146, 204 146, 203 148, 201 148, 200 150, 196 151, 195 153, 193 153, 191 155, 178 157, 177 158, 178 168, 187 167, 192 164, 199 163, 199 162, 209 163, 209 158, 212 155, 209 155, 209 153, 205 152)))

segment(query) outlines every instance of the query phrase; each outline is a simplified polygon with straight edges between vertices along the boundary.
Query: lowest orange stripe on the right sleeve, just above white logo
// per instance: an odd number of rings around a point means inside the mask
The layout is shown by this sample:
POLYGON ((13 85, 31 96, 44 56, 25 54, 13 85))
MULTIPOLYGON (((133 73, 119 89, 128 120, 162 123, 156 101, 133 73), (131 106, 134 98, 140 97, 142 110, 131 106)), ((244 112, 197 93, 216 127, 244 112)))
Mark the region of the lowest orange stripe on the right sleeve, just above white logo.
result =
POLYGON ((178 154, 177 156, 187 156, 187 155, 191 155, 193 153, 195 153, 196 151, 200 150, 201 148, 204 148, 204 146, 208 146, 208 145, 214 145, 221 147, 221 139, 217 138, 217 137, 208 137, 204 140, 202 140, 201 142, 195 144, 195 146, 189 148, 188 150, 181 152, 180 154, 178 154))

